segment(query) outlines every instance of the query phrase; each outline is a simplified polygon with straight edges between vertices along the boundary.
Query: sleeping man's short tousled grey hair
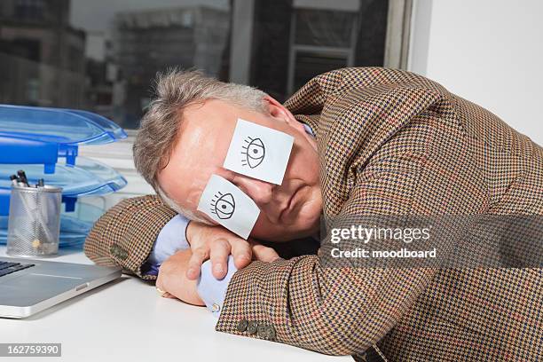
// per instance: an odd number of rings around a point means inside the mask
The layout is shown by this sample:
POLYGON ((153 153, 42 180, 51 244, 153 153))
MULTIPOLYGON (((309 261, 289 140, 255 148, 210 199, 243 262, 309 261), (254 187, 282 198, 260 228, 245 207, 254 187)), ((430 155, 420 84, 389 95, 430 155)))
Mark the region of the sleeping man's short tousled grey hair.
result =
POLYGON ((170 208, 191 220, 206 222, 190 210, 181 208, 164 192, 157 179, 161 169, 168 165, 169 155, 179 139, 183 111, 186 106, 218 99, 264 114, 265 96, 264 91, 248 85, 220 82, 197 70, 170 69, 158 74, 154 97, 141 120, 132 148, 136 169, 170 208))

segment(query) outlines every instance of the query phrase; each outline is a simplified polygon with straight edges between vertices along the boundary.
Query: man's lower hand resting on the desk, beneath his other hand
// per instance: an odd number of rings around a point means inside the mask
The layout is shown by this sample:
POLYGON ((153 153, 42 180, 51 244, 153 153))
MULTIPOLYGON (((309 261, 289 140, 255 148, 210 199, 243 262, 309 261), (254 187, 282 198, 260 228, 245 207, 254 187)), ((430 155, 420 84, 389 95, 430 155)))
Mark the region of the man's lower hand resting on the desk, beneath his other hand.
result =
POLYGON ((186 278, 186 269, 192 256, 191 250, 177 251, 161 264, 156 287, 166 292, 166 297, 177 297, 185 303, 204 305, 196 291, 196 280, 186 278))

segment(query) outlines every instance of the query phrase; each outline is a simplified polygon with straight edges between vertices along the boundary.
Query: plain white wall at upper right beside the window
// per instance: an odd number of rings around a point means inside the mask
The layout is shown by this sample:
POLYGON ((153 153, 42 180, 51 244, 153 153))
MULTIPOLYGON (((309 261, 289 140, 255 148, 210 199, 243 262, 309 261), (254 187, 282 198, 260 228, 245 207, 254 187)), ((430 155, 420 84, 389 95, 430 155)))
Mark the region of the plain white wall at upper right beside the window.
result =
POLYGON ((408 68, 543 146, 543 1, 415 0, 408 68))

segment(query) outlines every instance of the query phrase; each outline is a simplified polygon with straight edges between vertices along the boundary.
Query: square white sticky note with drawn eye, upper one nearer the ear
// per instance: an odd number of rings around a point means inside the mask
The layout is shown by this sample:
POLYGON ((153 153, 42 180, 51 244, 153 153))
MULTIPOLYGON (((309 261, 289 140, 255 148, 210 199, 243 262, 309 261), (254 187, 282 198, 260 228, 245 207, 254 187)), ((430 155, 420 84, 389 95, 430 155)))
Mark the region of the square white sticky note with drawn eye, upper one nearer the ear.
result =
POLYGON ((294 138, 287 133, 238 119, 224 168, 281 185, 294 138))

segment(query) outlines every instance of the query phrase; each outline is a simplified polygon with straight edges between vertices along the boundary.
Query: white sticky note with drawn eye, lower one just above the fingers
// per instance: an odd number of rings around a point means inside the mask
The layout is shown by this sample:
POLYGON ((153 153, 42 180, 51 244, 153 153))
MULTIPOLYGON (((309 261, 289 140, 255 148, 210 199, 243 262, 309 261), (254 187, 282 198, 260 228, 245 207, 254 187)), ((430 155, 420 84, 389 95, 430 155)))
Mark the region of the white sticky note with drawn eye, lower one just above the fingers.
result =
POLYGON ((209 178, 198 210, 243 239, 248 238, 260 214, 255 201, 236 185, 217 175, 209 178))

